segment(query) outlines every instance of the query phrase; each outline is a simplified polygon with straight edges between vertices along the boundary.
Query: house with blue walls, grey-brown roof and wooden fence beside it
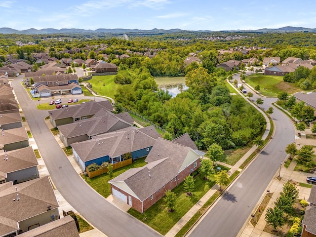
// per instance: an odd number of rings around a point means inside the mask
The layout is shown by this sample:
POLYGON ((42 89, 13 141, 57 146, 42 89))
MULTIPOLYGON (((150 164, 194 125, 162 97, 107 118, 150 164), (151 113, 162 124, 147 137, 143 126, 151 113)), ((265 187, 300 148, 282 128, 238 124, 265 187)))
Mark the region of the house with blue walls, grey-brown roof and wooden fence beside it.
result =
POLYGON ((145 157, 152 149, 156 139, 160 137, 154 126, 126 127, 92 137, 92 139, 73 143, 74 156, 83 168, 91 163, 101 165, 103 162, 117 163, 123 156, 131 153, 133 159, 145 157))

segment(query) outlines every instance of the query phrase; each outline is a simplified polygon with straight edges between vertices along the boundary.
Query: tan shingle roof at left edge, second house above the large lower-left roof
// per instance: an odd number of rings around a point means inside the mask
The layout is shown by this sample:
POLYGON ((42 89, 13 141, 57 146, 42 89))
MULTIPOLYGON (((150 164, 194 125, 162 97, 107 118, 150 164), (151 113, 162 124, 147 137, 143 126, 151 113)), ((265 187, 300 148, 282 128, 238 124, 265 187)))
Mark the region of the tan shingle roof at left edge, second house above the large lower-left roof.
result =
POLYGON ((29 135, 26 132, 25 127, 0 131, 0 144, 2 145, 26 140, 29 140, 29 135))

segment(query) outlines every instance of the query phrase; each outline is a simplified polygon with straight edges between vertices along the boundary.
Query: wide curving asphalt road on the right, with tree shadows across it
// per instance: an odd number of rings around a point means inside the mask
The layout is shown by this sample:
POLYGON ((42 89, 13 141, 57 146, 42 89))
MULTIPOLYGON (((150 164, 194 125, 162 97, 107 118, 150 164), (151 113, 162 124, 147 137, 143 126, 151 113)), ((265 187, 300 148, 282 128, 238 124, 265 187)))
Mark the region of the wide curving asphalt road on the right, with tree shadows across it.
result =
MULTIPOLYGON (((235 75, 235 78, 239 78, 239 75, 235 75)), ((251 91, 247 85, 244 86, 247 91, 251 91)), ((253 99, 256 98, 258 95, 254 93, 253 99)), ((261 107, 264 110, 276 101, 274 98, 262 99, 264 104, 261 107)), ((286 146, 294 142, 295 138, 295 128, 286 115, 274 108, 272 117, 276 125, 273 139, 197 223, 189 233, 190 237, 236 237, 245 221, 253 214, 251 212, 286 157, 286 146)))

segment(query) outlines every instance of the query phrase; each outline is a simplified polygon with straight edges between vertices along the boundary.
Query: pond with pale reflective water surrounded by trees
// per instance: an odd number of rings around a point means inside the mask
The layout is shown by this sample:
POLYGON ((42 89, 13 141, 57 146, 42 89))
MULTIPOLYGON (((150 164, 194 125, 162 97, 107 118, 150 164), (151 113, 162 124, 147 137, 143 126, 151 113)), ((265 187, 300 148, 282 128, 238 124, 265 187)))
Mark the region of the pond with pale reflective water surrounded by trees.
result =
POLYGON ((155 81, 159 89, 167 90, 172 97, 189 88, 185 84, 185 77, 161 77, 155 78, 155 81))

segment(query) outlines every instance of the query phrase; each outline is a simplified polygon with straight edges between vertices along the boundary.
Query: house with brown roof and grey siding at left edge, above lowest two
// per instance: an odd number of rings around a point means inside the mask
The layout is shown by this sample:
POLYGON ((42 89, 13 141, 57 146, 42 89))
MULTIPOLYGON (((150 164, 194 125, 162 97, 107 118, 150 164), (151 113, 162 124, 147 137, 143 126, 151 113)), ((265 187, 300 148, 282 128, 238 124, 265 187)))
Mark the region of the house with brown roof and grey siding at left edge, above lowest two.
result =
POLYGON ((0 153, 0 184, 39 178, 38 164, 32 147, 0 153))

